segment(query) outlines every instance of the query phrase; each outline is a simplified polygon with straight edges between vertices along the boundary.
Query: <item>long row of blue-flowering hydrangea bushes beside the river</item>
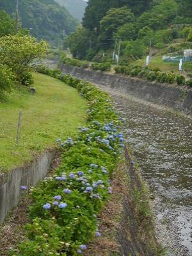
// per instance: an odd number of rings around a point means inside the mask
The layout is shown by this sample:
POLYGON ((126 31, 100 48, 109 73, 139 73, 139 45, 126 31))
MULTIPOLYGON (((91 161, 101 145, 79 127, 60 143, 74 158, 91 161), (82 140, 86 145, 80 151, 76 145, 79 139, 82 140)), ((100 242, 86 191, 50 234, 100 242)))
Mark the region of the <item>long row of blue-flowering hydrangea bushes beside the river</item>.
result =
POLYGON ((120 124, 108 94, 70 74, 37 67, 72 87, 87 99, 86 126, 76 138, 57 139, 63 147, 62 162, 40 185, 31 188, 31 223, 28 240, 12 255, 81 255, 100 232, 97 216, 111 194, 110 175, 124 147, 120 124))

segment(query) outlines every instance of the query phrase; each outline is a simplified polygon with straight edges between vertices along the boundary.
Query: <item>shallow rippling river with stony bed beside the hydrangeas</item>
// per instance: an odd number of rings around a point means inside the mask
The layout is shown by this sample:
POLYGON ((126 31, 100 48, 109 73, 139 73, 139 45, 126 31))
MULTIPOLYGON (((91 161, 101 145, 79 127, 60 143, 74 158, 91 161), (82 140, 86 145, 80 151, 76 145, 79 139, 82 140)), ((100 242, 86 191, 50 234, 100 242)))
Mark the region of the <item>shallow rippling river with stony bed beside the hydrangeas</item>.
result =
POLYGON ((154 197, 157 237, 169 255, 191 256, 192 121, 111 96, 127 118, 125 140, 154 197))

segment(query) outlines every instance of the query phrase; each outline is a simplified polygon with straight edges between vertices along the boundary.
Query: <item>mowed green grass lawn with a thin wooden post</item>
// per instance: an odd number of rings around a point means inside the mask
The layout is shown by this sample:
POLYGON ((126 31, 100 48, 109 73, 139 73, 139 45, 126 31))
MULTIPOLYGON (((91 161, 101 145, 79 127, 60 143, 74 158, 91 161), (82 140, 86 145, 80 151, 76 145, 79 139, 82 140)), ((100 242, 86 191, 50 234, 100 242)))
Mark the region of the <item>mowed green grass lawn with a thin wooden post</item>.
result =
POLYGON ((34 153, 60 146, 84 124, 86 100, 65 83, 34 73, 36 92, 14 90, 0 103, 0 175, 32 159, 34 153), (19 145, 17 127, 22 110, 19 145))

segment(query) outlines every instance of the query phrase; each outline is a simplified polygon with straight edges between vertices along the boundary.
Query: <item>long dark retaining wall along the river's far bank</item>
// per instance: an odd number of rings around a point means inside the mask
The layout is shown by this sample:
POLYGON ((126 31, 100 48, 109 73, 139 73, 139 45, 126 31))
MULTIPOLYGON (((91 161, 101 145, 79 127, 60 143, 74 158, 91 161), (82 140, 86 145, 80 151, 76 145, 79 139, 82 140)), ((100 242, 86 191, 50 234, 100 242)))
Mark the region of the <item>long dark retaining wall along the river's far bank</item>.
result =
MULTIPOLYGON (((110 87, 133 98, 165 108, 173 108, 186 115, 192 115, 192 92, 161 83, 151 83, 119 74, 106 74, 88 69, 81 69, 65 64, 59 66, 64 73, 88 80, 98 85, 110 87)), ((108 90, 109 91, 109 90, 108 90)))

